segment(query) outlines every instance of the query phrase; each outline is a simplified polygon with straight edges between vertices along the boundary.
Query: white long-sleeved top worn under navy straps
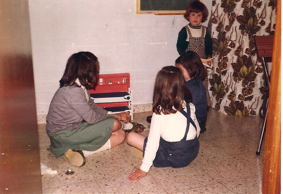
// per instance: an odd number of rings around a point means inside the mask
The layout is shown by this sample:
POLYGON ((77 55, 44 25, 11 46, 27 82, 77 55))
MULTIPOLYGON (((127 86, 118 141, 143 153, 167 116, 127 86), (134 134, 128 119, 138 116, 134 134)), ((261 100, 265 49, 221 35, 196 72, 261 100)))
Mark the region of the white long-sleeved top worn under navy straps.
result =
MULTIPOLYGON (((186 105, 184 105, 184 111, 187 112, 186 105)), ((196 124, 197 131, 190 123, 190 128, 186 140, 194 139, 196 137, 196 134, 197 137, 200 134, 200 127, 195 115, 195 106, 192 103, 190 103, 190 111, 191 118, 196 124)), ((179 111, 177 111, 177 113, 175 114, 169 115, 164 115, 162 113, 160 115, 157 115, 153 113, 150 123, 148 141, 140 169, 145 172, 149 171, 159 147, 160 137, 168 142, 180 141, 185 135, 186 128, 187 118, 179 111)))

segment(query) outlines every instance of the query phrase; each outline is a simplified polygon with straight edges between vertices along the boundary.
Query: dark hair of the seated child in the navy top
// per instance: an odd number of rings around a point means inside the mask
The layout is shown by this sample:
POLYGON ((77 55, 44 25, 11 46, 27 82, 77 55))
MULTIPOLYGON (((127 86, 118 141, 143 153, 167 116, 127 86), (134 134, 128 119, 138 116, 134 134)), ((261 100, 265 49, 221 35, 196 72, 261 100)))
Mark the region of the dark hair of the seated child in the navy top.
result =
POLYGON ((175 64, 181 64, 188 71, 191 78, 202 79, 207 76, 207 71, 200 57, 194 51, 187 51, 175 60, 175 64))

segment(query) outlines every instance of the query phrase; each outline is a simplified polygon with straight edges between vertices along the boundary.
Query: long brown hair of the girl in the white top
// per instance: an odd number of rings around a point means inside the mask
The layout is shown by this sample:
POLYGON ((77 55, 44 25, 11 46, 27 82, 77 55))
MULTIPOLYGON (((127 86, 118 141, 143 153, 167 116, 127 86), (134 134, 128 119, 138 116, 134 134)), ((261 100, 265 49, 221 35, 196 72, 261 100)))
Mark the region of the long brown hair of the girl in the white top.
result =
POLYGON ((174 66, 163 67, 155 78, 152 111, 158 115, 176 113, 175 109, 182 111, 184 100, 192 102, 192 94, 181 70, 174 66))

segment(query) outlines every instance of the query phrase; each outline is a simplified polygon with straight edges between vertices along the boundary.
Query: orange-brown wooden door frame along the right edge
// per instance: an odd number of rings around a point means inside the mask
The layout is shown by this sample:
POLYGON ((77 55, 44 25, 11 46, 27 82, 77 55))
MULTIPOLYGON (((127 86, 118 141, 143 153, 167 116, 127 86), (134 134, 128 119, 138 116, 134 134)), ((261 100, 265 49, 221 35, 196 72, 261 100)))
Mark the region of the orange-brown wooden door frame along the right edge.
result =
POLYGON ((263 162, 263 194, 281 191, 281 0, 277 1, 263 162))

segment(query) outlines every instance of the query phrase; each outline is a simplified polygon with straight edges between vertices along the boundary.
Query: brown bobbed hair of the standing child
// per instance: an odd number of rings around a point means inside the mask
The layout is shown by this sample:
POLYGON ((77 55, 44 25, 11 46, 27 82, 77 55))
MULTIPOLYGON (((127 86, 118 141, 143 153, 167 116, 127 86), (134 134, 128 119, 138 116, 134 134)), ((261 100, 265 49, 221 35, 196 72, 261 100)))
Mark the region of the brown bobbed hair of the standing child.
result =
POLYGON ((207 7, 200 1, 193 1, 192 3, 190 3, 190 5, 187 7, 186 9, 186 13, 184 15, 184 18, 186 20, 189 21, 189 15, 191 12, 195 12, 195 13, 202 13, 202 20, 201 22, 205 22, 207 20, 208 17, 208 9, 207 7))

